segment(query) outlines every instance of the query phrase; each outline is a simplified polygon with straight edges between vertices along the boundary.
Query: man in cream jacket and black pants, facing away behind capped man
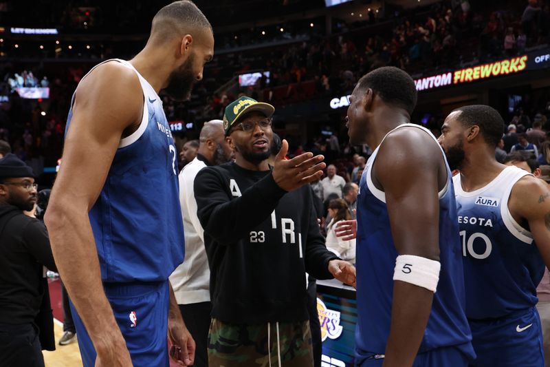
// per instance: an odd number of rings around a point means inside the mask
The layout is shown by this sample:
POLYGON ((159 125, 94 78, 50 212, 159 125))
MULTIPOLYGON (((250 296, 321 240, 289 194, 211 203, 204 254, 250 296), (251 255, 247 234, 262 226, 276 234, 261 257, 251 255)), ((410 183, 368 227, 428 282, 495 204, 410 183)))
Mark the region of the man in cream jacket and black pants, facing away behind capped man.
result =
POLYGON ((195 367, 208 367, 208 327, 210 326, 210 269, 204 249, 204 229, 197 218, 193 183, 201 169, 228 162, 233 155, 225 141, 223 122, 204 124, 199 137, 197 157, 179 174, 179 202, 184 218, 185 260, 170 275, 177 304, 195 343, 195 367))

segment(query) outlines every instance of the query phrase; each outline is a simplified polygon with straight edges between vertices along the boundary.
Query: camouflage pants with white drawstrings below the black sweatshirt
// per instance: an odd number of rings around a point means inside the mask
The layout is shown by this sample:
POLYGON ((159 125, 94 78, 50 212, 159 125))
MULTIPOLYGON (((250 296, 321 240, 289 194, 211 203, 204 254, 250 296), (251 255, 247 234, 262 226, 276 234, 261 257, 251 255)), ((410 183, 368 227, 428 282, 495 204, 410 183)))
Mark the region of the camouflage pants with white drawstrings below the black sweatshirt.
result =
POLYGON ((309 321, 224 324, 212 319, 210 367, 313 367, 309 321))

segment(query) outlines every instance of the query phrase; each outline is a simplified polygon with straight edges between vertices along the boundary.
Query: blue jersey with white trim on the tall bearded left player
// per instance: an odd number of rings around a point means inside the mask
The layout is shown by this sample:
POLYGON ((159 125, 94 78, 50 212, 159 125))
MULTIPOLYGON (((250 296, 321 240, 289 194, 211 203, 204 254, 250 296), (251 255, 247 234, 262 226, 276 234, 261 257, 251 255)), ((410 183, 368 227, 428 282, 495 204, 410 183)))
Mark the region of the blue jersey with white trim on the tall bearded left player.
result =
MULTIPOLYGON (((139 77, 144 106, 140 126, 120 140, 104 187, 89 212, 101 277, 104 282, 167 280, 184 260, 177 151, 153 87, 129 62, 115 61, 139 77)), ((67 129, 71 118, 72 107, 67 129)))

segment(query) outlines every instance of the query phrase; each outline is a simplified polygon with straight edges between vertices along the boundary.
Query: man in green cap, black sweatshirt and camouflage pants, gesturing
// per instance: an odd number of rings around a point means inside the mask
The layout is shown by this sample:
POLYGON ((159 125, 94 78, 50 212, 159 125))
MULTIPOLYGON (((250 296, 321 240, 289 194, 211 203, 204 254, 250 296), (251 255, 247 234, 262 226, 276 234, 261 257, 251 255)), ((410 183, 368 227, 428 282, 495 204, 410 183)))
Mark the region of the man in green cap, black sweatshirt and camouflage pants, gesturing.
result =
POLYGON ((210 366, 313 366, 306 272, 355 284, 355 268, 325 247, 309 182, 322 156, 267 164, 274 107, 241 97, 225 109, 235 162, 195 178, 198 217, 210 264, 210 366))

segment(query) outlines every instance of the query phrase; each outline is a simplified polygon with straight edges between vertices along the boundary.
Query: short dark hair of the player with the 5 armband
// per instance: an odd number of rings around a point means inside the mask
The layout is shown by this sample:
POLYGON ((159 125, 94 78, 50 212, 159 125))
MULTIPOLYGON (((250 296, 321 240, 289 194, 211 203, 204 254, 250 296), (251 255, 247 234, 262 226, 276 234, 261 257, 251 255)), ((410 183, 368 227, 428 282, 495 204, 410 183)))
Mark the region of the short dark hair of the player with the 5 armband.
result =
POLYGON ((358 89, 371 88, 388 105, 405 109, 408 114, 417 105, 417 87, 409 74, 393 66, 379 67, 359 79, 358 89))

